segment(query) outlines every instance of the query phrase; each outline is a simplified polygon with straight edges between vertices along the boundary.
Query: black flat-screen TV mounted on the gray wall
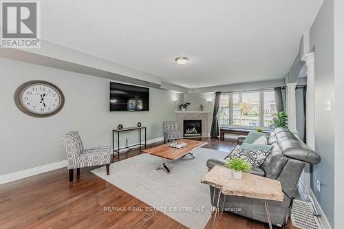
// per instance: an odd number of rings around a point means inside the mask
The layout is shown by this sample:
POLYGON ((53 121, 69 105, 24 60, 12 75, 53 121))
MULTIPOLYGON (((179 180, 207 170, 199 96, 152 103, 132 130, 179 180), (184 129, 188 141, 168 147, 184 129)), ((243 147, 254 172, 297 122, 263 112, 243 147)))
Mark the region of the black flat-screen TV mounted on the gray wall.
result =
POLYGON ((149 88, 110 82, 110 111, 149 111, 149 88))

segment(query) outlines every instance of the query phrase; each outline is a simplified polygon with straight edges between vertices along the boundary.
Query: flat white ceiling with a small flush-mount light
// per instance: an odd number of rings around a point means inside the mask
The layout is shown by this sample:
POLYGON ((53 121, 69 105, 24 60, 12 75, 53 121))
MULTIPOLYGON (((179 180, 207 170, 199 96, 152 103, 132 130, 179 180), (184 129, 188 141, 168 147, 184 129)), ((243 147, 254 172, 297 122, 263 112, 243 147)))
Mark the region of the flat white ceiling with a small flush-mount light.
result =
POLYGON ((290 69, 322 2, 44 0, 41 36, 183 87, 271 80, 290 69))

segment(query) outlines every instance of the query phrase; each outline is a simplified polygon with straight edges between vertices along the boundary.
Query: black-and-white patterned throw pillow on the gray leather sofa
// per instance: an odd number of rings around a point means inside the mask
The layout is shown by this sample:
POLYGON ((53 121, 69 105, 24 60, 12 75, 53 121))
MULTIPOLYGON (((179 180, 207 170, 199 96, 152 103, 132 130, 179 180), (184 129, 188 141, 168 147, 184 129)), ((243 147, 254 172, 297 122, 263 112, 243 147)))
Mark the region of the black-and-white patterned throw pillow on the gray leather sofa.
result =
POLYGON ((230 154, 233 157, 239 157, 245 162, 250 163, 253 167, 257 168, 261 166, 266 160, 266 157, 270 154, 270 151, 259 151, 259 150, 250 150, 250 149, 233 149, 230 154))

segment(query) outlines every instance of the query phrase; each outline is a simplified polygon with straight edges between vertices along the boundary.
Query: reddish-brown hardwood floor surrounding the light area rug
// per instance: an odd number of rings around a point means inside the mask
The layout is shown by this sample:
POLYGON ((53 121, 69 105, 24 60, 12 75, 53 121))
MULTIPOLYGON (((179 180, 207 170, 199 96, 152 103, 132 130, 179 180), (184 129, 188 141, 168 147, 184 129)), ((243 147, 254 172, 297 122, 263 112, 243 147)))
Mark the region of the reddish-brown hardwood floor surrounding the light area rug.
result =
MULTIPOLYGON (((202 141, 209 142, 204 148, 228 152, 236 145, 228 140, 202 141)), ((120 160, 138 154, 138 150, 122 153, 120 160)), ((94 168, 81 168, 80 177, 75 171, 74 182, 68 182, 67 168, 60 168, 1 185, 0 228, 186 228, 162 212, 139 211, 149 206, 90 173, 94 168), (107 209, 114 206, 118 209, 107 209)), ((215 228, 263 229, 268 225, 224 213, 215 228)), ((293 228, 290 222, 286 228, 293 228)))

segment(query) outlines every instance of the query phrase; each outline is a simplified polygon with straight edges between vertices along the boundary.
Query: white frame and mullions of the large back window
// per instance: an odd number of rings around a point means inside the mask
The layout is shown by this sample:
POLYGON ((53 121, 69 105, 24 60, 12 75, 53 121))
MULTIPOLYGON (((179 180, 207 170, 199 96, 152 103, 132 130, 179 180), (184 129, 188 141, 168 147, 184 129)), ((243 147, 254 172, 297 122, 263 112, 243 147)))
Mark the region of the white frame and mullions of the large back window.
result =
MULTIPOLYGON (((264 89, 264 90, 257 90, 257 91, 235 91, 230 93, 222 93, 222 95, 229 95, 229 122, 230 124, 224 125, 219 124, 219 127, 229 127, 229 128, 238 128, 238 129, 252 129, 252 127, 249 126, 239 126, 239 125, 233 125, 233 94, 244 94, 244 93, 259 93, 259 127, 256 128, 262 128, 264 130, 270 129, 269 127, 264 127, 264 106, 265 106, 265 100, 264 100, 264 92, 273 91, 273 89, 264 89)), ((220 113, 217 115, 218 120, 220 120, 220 113)), ((254 128, 254 127, 253 127, 254 128)))

